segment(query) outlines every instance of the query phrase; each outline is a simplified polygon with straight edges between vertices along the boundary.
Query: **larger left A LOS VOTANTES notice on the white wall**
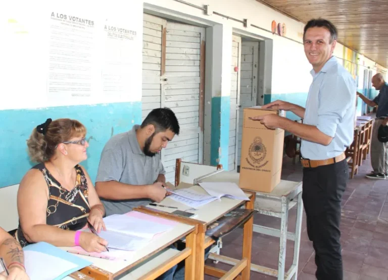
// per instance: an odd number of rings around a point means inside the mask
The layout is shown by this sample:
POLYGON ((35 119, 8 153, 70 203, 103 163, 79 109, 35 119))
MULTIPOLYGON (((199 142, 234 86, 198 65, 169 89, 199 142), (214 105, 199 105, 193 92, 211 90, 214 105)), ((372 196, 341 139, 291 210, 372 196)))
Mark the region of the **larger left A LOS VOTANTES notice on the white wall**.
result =
POLYGON ((52 11, 50 16, 49 98, 90 97, 96 60, 95 19, 61 11, 52 11))

